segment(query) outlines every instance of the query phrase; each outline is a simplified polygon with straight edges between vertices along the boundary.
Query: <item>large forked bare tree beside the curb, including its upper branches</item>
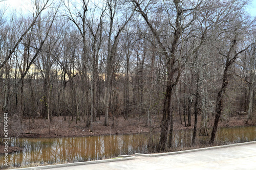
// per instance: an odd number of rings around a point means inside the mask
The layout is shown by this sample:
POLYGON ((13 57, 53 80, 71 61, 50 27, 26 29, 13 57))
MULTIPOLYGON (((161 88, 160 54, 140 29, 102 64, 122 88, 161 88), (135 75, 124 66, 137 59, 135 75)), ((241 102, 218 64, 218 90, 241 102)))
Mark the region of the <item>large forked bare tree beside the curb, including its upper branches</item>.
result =
MULTIPOLYGON (((164 7, 164 15, 167 16, 166 22, 169 23, 168 28, 172 29, 172 37, 171 41, 166 43, 161 39, 163 37, 160 36, 159 30, 154 27, 150 17, 148 16, 149 7, 152 9, 154 4, 150 4, 148 2, 141 3, 139 1, 132 1, 137 11, 141 14, 143 19, 145 20, 147 26, 150 28, 153 35, 156 37, 157 44, 159 45, 159 51, 165 57, 166 62, 166 71, 167 71, 167 80, 166 80, 166 92, 165 99, 163 105, 163 118, 161 122, 161 135, 160 141, 158 145, 158 151, 162 151, 165 148, 166 140, 167 140, 167 132, 169 130, 169 147, 172 147, 173 140, 173 114, 171 110, 172 103, 172 92, 173 88, 177 85, 182 67, 184 66, 181 62, 182 58, 177 56, 178 45, 180 43, 180 39, 182 41, 181 46, 183 46, 183 32, 187 29, 191 23, 195 20, 195 15, 193 15, 193 11, 197 9, 197 7, 202 3, 196 2, 195 4, 186 4, 191 5, 191 9, 184 9, 183 1, 173 1, 173 2, 165 2, 163 1, 162 7, 164 7), (175 19, 174 19, 175 18, 175 19), (171 44, 169 46, 168 44, 171 44), (170 125, 170 127, 169 127, 170 125)), ((159 5, 156 3, 156 6, 159 5)), ((185 4, 184 4, 185 5, 185 4)), ((170 39, 169 37, 169 39, 170 39)))

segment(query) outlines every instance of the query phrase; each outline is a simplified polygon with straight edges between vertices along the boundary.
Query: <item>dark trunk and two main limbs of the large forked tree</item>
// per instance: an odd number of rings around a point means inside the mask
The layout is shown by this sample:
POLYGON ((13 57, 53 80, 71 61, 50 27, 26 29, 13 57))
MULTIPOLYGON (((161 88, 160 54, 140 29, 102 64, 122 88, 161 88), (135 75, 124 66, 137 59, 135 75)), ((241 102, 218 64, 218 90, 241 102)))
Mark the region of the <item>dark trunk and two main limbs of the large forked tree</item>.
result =
MULTIPOLYGON (((148 20, 148 16, 146 13, 144 13, 144 10, 141 9, 140 4, 137 1, 133 1, 134 5, 137 7, 139 13, 142 15, 144 20, 147 23, 147 26, 150 28, 151 32, 155 36, 158 45, 160 46, 162 50, 162 55, 165 56, 166 60, 166 67, 167 67, 167 83, 166 83, 166 92, 165 92, 165 98, 164 98, 164 105, 163 105, 163 118, 161 121, 161 135, 160 135, 160 140, 159 144, 157 146, 158 151, 163 151, 165 149, 165 144, 167 140, 167 132, 168 132, 168 125, 170 123, 170 118, 171 118, 171 100, 172 100, 172 91, 174 86, 177 85, 179 81, 179 77, 181 74, 181 68, 175 67, 175 64, 177 62, 177 58, 175 57, 175 53, 177 50, 177 44, 178 41, 181 37, 181 25, 180 25, 180 16, 182 15, 182 9, 180 6, 180 0, 175 0, 175 8, 176 8, 176 19, 175 19, 175 28, 174 28, 174 39, 172 41, 172 47, 166 49, 164 44, 161 42, 160 36, 157 32, 157 30, 153 27, 152 23, 150 20, 148 20), (175 74, 178 72, 177 76, 175 77, 175 74)), ((173 123, 173 122, 171 122, 173 123)), ((172 127, 173 125, 170 125, 172 127)), ((169 145, 172 145, 169 143, 169 145)))

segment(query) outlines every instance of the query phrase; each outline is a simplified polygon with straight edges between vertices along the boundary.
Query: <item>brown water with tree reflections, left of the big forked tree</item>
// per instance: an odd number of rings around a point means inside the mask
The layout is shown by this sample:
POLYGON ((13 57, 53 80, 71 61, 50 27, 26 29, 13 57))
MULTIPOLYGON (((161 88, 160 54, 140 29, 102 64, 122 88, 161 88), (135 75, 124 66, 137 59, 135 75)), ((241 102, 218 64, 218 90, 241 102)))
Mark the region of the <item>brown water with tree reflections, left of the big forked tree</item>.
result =
MULTIPOLYGON (((81 162, 142 153, 147 134, 67 138, 11 138, 11 145, 24 151, 8 155, 12 166, 29 163, 81 162)), ((1 164, 3 167, 3 164, 1 164)))

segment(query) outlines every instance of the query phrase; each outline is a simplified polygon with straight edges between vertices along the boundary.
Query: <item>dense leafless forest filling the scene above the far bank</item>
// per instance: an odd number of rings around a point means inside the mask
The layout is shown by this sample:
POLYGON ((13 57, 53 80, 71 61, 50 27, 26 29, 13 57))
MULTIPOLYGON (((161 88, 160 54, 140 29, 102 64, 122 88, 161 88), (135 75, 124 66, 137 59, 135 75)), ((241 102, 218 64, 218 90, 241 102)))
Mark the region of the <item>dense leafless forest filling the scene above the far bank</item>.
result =
POLYGON ((248 1, 44 0, 27 12, 1 3, 0 109, 18 129, 62 117, 93 132, 121 116, 153 127, 160 115, 163 151, 174 119, 194 126, 192 143, 214 143, 219 120, 234 115, 256 123, 248 1))

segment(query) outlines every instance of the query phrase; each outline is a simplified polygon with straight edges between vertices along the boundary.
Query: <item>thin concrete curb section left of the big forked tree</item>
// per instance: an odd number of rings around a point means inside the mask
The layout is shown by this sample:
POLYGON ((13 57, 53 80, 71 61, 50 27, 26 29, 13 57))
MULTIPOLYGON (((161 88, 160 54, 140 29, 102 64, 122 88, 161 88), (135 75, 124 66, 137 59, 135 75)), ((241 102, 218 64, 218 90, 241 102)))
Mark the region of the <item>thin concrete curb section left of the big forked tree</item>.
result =
MULTIPOLYGON (((34 166, 34 167, 25 167, 25 168, 17 168, 17 170, 34 170, 34 169, 49 169, 55 167, 67 167, 67 166, 76 166, 76 165, 86 165, 86 164, 95 164, 95 163, 103 163, 103 162, 116 162, 116 161, 123 161, 123 160, 131 160, 136 159, 134 156, 129 155, 118 155, 116 159, 104 159, 104 160, 96 160, 96 161, 87 161, 87 162, 75 162, 75 163, 65 163, 65 164, 56 164, 56 165, 46 165, 46 166, 34 166)), ((13 169, 16 170, 16 169, 13 169)))

